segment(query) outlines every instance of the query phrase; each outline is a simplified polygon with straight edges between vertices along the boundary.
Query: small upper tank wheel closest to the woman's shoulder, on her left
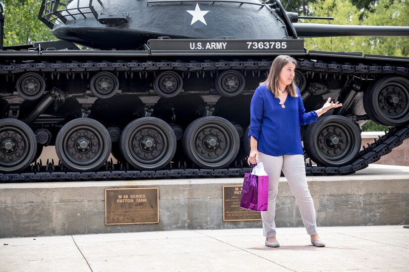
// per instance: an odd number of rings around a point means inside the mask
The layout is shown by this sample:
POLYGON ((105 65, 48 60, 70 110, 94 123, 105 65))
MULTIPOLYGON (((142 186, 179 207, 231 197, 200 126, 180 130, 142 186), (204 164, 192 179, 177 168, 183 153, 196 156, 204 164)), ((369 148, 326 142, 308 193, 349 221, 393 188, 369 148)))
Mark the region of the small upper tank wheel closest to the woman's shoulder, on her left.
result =
POLYGON ((215 80, 216 90, 223 96, 232 97, 244 90, 244 76, 235 70, 226 70, 215 80))

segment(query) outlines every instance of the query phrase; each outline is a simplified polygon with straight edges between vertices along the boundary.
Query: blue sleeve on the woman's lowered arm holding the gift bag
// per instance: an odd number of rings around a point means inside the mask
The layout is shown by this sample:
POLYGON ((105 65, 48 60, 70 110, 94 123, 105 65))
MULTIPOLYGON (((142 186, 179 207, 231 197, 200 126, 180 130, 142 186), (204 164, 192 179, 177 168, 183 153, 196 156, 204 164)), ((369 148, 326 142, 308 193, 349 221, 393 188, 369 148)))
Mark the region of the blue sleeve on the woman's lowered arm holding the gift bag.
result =
POLYGON ((253 136, 257 141, 263 120, 264 101, 262 95, 260 89, 257 88, 250 103, 250 128, 248 130, 248 138, 253 136))

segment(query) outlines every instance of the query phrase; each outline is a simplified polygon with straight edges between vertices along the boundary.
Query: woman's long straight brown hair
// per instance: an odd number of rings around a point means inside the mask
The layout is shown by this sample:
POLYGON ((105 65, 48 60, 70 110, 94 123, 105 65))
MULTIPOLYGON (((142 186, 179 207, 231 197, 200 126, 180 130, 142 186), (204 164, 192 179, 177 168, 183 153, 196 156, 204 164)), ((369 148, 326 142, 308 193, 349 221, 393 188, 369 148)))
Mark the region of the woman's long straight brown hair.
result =
MULTIPOLYGON (((278 80, 280 77, 281 69, 283 69, 284 66, 291 62, 297 65, 297 61, 291 56, 286 55, 277 56, 270 67, 270 72, 268 73, 267 79, 260 83, 260 85, 267 84, 267 89, 271 91, 276 98, 278 98, 280 94, 278 88, 278 80)), ((294 80, 292 80, 292 83, 290 85, 287 85, 286 89, 292 97, 298 96, 297 91, 295 91, 294 80)))

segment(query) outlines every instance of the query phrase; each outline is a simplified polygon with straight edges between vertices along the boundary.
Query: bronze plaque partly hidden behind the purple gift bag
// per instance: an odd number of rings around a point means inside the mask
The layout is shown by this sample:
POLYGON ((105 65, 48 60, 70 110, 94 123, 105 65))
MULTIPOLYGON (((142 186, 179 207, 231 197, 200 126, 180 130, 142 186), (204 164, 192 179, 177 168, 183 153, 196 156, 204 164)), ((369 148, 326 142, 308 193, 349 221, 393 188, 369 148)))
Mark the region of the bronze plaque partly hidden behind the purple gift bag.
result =
POLYGON ((223 186, 223 221, 261 220, 260 212, 240 208, 242 185, 223 186))

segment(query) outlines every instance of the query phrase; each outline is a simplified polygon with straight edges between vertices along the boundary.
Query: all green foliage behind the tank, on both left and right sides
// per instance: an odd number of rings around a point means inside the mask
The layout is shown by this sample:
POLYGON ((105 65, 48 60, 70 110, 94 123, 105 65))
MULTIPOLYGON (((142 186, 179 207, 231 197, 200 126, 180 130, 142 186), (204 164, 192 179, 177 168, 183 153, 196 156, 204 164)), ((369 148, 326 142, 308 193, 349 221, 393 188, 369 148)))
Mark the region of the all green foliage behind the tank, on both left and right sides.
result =
MULTIPOLYGON (((41 0, 1 0, 4 7, 4 46, 52 41, 52 31, 38 19, 41 0)), ((288 11, 300 15, 334 17, 334 20, 300 22, 340 25, 408 26, 409 0, 282 0, 288 11)), ((408 37, 330 37, 307 38, 308 50, 360 51, 409 57, 408 37)), ((382 131, 387 127, 367 122, 364 131, 382 131)))

